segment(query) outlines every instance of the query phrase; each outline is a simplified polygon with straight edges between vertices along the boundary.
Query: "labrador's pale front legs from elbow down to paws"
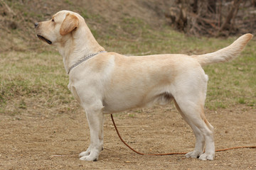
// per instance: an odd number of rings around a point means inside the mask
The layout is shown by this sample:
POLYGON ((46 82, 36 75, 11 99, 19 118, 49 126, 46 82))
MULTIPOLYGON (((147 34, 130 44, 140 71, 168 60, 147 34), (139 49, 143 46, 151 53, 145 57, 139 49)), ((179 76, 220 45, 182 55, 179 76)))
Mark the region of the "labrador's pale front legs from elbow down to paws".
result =
POLYGON ((87 121, 90 128, 90 146, 85 152, 79 154, 81 160, 97 161, 103 147, 103 120, 102 103, 97 102, 85 106, 87 121))

